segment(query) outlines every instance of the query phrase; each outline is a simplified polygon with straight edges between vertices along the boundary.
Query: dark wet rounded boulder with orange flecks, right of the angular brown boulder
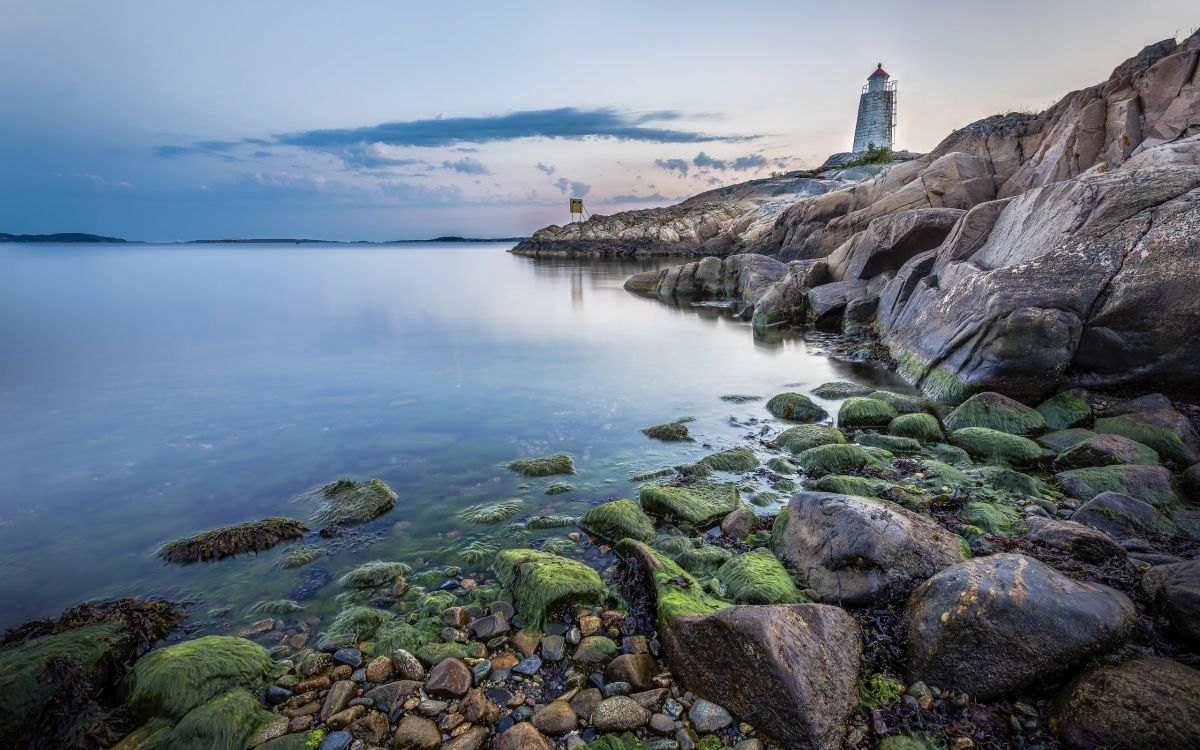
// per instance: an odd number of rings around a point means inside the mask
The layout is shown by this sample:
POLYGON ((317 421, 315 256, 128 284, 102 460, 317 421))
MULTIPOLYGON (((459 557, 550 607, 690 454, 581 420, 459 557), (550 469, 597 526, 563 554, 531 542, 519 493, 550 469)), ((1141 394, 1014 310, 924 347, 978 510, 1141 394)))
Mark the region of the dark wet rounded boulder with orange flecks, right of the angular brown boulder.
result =
POLYGON ((1006 553, 959 563, 917 587, 906 620, 910 682, 990 701, 1121 643, 1136 611, 1117 590, 1006 553))

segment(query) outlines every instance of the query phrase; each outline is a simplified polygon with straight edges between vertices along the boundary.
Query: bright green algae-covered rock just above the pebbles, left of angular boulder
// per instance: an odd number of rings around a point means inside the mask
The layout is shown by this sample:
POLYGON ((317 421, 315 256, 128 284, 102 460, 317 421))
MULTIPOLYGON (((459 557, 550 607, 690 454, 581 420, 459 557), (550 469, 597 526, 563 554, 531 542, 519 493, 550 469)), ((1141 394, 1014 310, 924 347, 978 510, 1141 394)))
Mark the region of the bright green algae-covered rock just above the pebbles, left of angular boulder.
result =
POLYGON ((608 592, 586 564, 538 550, 502 550, 494 568, 500 583, 512 590, 517 611, 534 628, 568 607, 598 605, 608 592))

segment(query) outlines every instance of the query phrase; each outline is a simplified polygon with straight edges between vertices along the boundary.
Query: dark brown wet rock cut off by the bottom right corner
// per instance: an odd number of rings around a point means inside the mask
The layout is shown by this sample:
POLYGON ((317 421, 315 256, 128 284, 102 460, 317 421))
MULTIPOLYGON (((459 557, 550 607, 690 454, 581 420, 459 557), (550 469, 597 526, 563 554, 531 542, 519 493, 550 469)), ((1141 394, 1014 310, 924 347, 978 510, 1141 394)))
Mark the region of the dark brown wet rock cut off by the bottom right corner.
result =
POLYGON ((1070 748, 1184 750, 1200 737, 1200 672, 1138 655, 1079 676, 1050 706, 1070 748))

